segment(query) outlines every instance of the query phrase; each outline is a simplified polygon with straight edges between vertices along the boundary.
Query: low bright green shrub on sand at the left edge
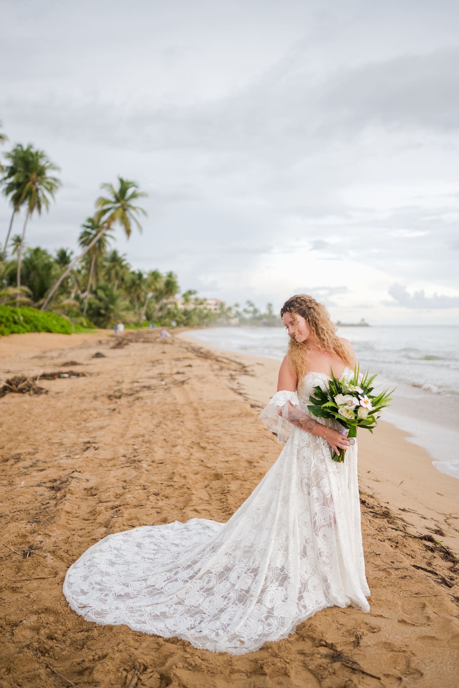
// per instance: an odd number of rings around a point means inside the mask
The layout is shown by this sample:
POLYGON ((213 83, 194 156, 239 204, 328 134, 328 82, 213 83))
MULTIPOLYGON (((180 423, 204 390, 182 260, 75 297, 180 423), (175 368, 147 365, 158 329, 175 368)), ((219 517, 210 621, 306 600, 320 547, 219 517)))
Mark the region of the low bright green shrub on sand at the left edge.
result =
POLYGON ((36 308, 0 305, 0 336, 23 332, 72 334, 72 325, 56 313, 42 312, 36 308))

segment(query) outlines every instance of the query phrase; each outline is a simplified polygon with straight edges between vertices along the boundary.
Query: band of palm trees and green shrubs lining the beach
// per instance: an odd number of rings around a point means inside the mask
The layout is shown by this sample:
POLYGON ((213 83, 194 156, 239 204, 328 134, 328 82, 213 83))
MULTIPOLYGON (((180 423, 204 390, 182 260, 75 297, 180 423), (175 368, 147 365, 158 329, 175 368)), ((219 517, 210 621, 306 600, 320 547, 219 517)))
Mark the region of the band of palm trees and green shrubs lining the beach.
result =
MULTIPOLYGON (((6 141, 0 136, 0 142, 6 141)), ((105 195, 96 199, 94 215, 81 225, 79 255, 59 248, 51 255, 41 246, 27 246, 25 229, 34 213, 48 210, 50 200, 61 185, 50 176, 58 167, 43 151, 31 144, 17 144, 3 153, 0 186, 8 199, 12 215, 6 241, 0 252, 0 334, 10 332, 87 332, 94 327, 146 327, 150 323, 171 326, 224 325, 234 323, 232 308, 220 304, 209 308, 195 290, 182 298, 177 276, 159 270, 132 270, 125 255, 110 246, 115 230, 129 239, 139 217, 146 216, 136 203, 147 194, 138 184, 118 177, 117 186, 102 184, 105 195), (18 213, 23 215, 23 230, 10 240, 18 213)), ((214 302, 215 303, 215 302, 214 302)), ((251 303, 236 315, 243 324, 271 324, 269 310, 261 314, 251 303)))

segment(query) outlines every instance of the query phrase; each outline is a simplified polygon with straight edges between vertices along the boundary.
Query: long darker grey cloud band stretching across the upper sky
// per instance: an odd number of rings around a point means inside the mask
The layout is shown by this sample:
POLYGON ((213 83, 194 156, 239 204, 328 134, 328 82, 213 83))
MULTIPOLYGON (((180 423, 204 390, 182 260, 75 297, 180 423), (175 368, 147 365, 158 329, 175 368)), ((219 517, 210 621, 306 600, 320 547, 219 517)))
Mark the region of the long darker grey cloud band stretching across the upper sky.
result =
POLYGON ((107 107, 107 95, 94 91, 21 94, 6 85, 3 108, 54 136, 116 148, 260 154, 284 147, 295 157, 312 154, 330 136, 345 140, 374 125, 458 131, 458 61, 459 48, 451 47, 313 78, 307 53, 297 50, 243 89, 193 104, 137 98, 107 107))

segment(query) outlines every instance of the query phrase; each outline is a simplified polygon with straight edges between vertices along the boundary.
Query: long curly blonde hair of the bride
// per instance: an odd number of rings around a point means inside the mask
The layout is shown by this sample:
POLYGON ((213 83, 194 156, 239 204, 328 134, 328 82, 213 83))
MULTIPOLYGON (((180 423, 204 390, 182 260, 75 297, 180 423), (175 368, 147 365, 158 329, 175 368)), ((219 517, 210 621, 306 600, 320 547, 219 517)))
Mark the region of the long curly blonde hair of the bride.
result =
MULTIPOLYGON (((317 347, 323 351, 339 356, 346 365, 354 366, 354 359, 350 352, 341 343, 337 336, 337 327, 330 320, 328 310, 322 303, 319 303, 308 294, 296 294, 290 297, 281 308, 281 318, 284 313, 290 314, 295 321, 295 330, 298 330, 296 315, 301 315, 308 323, 317 347)), ((304 376, 308 370, 308 347, 306 342, 298 342, 294 337, 290 337, 288 342, 288 363, 290 369, 297 376, 298 387, 301 389, 304 383, 304 376)))

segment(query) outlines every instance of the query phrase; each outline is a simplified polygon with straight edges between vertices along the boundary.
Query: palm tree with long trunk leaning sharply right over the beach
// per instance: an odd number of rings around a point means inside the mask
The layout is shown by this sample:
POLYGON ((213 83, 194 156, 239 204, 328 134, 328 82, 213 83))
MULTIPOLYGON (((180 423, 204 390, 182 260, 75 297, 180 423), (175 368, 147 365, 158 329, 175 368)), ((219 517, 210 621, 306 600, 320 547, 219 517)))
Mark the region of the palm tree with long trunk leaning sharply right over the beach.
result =
POLYGON ((128 239, 131 235, 132 221, 136 222, 139 231, 142 232, 142 227, 140 226, 136 217, 134 217, 133 213, 143 213, 144 215, 147 215, 147 213, 145 213, 145 210, 143 208, 134 206, 132 204, 132 201, 136 200, 137 198, 140 198, 141 196, 146 196, 147 194, 143 193, 142 191, 136 191, 136 189, 138 189, 138 184, 136 184, 135 182, 130 182, 129 180, 122 179, 122 177, 118 177, 118 180, 120 182, 120 189, 118 191, 115 191, 114 187, 111 186, 111 184, 103 184, 101 187, 102 189, 109 189, 112 198, 109 199, 100 196, 98 200, 96 200, 96 208, 100 208, 100 211, 96 213, 94 219, 96 220, 96 222, 100 222, 100 220, 103 219, 103 217, 105 217, 103 224, 100 225, 100 233, 96 237, 94 237, 91 244, 85 246, 83 252, 76 259, 74 259, 73 263, 70 264, 67 270, 63 272, 63 275, 59 277, 58 281, 48 294, 47 299, 45 299, 45 301, 43 302, 41 310, 45 310, 52 295, 54 294, 58 286, 61 284, 61 281, 63 281, 64 277, 67 277, 70 270, 72 270, 72 268, 74 268, 78 261, 81 260, 83 256, 88 252, 88 250, 92 248, 92 246, 94 246, 99 236, 111 228, 112 224, 118 222, 125 230, 125 235, 128 239), (134 191, 131 191, 131 189, 134 189, 134 191))

